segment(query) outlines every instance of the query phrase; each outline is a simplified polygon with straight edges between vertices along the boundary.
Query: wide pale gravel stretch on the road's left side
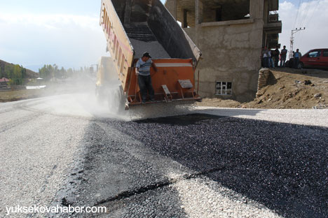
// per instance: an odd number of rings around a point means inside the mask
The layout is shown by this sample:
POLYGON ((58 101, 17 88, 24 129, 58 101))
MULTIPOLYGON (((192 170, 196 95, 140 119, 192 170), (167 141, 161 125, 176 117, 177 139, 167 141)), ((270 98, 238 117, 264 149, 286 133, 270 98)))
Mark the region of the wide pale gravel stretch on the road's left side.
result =
POLYGON ((87 119, 25 108, 25 103, 33 101, 7 104, 13 110, 0 113, 0 217, 7 217, 6 207, 50 204, 67 177, 83 126, 88 124, 87 119))

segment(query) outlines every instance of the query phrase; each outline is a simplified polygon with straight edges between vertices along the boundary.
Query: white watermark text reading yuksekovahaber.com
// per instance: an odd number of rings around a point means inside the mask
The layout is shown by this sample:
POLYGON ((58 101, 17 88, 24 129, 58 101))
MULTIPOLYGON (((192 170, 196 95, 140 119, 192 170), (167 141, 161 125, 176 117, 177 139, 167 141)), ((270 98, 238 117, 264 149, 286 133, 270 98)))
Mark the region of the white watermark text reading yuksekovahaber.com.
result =
POLYGON ((43 207, 43 206, 22 206, 15 205, 13 207, 6 207, 7 216, 13 213, 106 213, 106 207, 72 207, 66 206, 53 206, 53 207, 43 207))

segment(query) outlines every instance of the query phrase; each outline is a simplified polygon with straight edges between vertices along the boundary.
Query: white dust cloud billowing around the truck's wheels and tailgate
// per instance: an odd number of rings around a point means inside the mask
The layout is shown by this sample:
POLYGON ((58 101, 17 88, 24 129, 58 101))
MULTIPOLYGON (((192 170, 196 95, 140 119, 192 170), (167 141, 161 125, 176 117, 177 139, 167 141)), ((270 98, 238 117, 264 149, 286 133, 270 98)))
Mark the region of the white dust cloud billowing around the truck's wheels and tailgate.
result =
MULTIPOLYGON (((113 72, 113 69, 107 68, 113 72)), ((123 121, 186 115, 193 110, 188 102, 146 103, 130 106, 125 110, 126 97, 118 78, 111 78, 102 86, 102 92, 96 88, 96 73, 76 75, 66 81, 53 82, 44 89, 43 98, 27 101, 25 106, 33 110, 86 118, 110 118, 123 121)))

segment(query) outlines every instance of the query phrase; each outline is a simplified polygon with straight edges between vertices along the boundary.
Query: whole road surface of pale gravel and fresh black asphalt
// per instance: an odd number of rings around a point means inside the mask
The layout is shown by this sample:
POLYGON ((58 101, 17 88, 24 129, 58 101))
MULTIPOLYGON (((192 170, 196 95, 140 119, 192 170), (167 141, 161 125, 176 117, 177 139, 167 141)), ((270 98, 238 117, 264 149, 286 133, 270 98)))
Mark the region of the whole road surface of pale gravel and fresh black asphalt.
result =
POLYGON ((328 110, 184 112, 127 121, 86 96, 1 103, 0 217, 15 205, 107 213, 7 217, 327 217, 328 110))

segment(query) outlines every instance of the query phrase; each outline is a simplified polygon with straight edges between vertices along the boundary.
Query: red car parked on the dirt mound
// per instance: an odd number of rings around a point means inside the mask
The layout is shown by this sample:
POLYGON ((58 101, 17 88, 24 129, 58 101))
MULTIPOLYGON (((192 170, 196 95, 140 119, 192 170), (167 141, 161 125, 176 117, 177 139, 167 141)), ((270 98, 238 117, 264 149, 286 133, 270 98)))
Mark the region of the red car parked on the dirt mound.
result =
POLYGON ((308 51, 299 60, 298 68, 328 69, 328 48, 318 48, 308 51))

